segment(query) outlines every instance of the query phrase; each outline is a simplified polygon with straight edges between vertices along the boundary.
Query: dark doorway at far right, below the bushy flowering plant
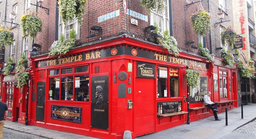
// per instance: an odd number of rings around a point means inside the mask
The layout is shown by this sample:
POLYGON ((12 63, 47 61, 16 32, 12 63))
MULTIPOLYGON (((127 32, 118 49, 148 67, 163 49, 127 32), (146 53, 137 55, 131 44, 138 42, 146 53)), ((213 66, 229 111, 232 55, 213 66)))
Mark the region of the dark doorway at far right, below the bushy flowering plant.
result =
POLYGON ((241 95, 242 95, 241 103, 246 105, 251 102, 249 78, 241 77, 240 81, 241 81, 241 95))

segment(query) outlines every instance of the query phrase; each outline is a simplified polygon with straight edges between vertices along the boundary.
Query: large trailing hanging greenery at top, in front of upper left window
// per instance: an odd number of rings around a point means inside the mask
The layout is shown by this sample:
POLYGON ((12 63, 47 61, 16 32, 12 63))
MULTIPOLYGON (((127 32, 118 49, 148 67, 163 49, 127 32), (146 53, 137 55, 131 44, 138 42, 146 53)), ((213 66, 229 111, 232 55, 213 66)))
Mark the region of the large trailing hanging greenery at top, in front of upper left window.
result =
POLYGON ((86 0, 59 0, 59 10, 63 23, 74 19, 81 25, 82 16, 85 13, 86 0))

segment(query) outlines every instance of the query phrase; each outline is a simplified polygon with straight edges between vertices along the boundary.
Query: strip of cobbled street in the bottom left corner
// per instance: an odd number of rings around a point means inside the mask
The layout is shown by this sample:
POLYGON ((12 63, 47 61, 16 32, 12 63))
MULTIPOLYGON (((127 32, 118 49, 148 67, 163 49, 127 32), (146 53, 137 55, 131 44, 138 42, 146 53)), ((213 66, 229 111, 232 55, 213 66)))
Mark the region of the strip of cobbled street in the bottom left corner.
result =
POLYGON ((3 138, 4 139, 45 139, 32 134, 22 133, 22 132, 14 131, 7 128, 3 129, 3 138))

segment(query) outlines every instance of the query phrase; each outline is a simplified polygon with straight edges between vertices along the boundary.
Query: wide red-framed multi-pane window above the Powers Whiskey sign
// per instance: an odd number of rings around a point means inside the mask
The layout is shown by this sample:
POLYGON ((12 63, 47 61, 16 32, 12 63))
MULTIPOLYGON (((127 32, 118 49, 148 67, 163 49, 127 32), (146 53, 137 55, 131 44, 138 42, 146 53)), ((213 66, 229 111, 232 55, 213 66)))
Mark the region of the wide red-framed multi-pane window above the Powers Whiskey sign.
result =
POLYGON ((49 76, 50 100, 89 101, 88 65, 49 70, 49 76))

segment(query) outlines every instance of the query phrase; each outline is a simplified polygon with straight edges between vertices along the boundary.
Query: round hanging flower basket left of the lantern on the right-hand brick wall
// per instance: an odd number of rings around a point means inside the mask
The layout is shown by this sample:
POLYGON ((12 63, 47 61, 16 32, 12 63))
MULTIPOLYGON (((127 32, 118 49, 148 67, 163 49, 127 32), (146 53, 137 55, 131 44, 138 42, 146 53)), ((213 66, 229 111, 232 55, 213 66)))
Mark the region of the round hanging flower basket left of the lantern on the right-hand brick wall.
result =
POLYGON ((210 16, 206 11, 200 11, 192 14, 190 17, 196 34, 206 36, 207 30, 210 29, 210 16))

